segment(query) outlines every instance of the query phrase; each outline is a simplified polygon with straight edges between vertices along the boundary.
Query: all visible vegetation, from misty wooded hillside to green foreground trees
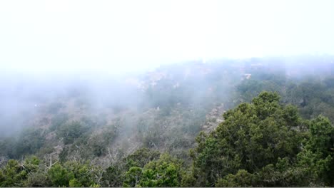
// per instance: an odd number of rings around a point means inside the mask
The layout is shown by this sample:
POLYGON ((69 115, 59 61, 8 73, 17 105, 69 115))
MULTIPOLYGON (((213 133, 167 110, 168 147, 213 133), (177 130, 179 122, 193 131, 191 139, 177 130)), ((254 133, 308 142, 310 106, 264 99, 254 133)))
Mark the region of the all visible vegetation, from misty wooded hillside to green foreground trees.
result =
POLYGON ((71 90, 1 137, 0 187, 334 186, 332 66, 250 64, 161 68, 135 108, 71 90))

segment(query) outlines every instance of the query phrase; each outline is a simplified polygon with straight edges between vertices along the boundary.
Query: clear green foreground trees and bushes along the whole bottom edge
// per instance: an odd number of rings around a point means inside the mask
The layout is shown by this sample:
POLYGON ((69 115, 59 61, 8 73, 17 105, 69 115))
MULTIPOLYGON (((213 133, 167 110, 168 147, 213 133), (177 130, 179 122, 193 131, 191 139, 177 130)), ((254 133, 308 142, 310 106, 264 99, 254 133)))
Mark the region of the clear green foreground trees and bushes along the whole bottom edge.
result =
MULTIPOLYGON (((304 120, 277 93, 263 92, 223 115, 196 138, 188 166, 141 149, 103 169, 89 161, 9 160, 1 187, 281 187, 333 186, 334 128, 327 117, 304 120)), ((72 125, 74 126, 74 125, 72 125)))

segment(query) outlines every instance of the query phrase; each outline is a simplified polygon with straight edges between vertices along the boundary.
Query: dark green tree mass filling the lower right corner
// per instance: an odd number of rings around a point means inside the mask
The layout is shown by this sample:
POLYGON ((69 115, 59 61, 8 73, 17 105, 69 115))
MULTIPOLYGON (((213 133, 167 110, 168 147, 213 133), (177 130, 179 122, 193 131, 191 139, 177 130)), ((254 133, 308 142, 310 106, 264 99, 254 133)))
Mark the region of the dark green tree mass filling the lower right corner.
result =
MULTIPOLYGON (((289 187, 333 184, 333 126, 318 116, 305 121, 276 93, 228 110, 224 122, 198 135, 191 150, 191 186, 289 187), (307 179, 300 181, 300 179, 307 179)), ((186 181, 186 179, 185 179, 186 181)))

